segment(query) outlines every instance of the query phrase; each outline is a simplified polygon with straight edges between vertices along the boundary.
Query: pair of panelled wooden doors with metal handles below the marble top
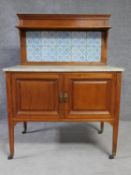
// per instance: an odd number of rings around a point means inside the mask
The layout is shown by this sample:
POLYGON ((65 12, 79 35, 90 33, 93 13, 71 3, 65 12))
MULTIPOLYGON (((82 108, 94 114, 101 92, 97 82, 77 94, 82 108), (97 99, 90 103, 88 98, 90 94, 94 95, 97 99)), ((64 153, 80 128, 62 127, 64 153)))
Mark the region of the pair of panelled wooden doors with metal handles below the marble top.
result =
POLYGON ((112 73, 13 73, 14 117, 40 120, 109 118, 114 114, 112 73), (37 119, 38 119, 37 118, 37 119))

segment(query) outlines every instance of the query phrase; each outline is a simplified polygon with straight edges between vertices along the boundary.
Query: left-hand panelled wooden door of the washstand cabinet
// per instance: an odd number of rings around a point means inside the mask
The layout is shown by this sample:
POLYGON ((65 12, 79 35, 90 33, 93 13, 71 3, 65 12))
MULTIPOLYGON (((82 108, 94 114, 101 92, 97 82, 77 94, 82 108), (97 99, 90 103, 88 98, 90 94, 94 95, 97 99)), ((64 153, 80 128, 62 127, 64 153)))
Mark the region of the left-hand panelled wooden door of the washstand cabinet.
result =
POLYGON ((58 74, 12 74, 14 117, 58 118, 61 115, 61 90, 62 80, 58 74))

